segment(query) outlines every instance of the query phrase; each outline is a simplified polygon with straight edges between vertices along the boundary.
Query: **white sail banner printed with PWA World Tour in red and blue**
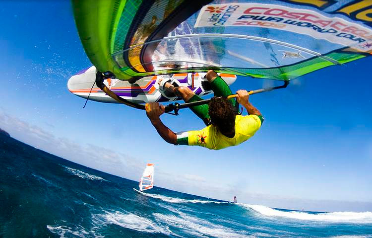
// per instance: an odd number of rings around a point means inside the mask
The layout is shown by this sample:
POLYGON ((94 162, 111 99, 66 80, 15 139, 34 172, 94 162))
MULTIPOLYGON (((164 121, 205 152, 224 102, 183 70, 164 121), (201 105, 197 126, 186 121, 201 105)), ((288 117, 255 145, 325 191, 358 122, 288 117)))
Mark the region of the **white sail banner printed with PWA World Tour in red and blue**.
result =
MULTIPOLYGON (((221 10, 220 8, 219 10, 221 10)), ((195 28, 228 26, 276 29, 307 35, 316 40, 341 44, 362 52, 371 53, 372 49, 372 28, 362 23, 354 22, 348 17, 338 15, 338 13, 332 14, 316 9, 294 8, 279 4, 230 3, 205 5, 194 25, 195 28), (213 8, 208 8, 209 6, 213 6, 213 8), (222 12, 216 12, 217 6, 224 7, 222 12)), ((239 31, 244 32, 243 29, 237 29, 237 32, 239 31)), ((295 55, 287 54, 286 58, 295 55)))

